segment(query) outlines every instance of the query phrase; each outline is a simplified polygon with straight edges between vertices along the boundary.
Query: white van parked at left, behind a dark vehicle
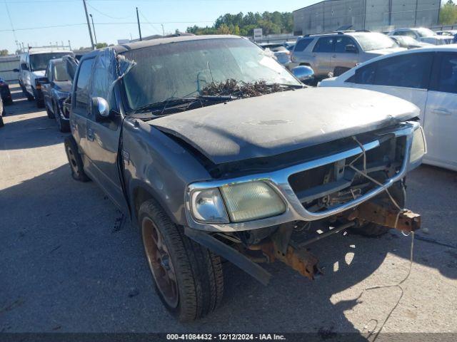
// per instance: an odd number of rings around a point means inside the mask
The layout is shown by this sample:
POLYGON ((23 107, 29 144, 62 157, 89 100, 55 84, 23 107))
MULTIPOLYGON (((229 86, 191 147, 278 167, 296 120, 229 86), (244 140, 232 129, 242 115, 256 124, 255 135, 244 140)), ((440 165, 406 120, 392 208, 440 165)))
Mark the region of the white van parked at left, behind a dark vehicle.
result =
POLYGON ((54 48, 29 48, 29 51, 21 54, 19 69, 19 86, 28 100, 35 100, 38 108, 44 107, 41 82, 44 81, 44 72, 48 62, 53 58, 71 55, 70 50, 56 50, 54 48))

